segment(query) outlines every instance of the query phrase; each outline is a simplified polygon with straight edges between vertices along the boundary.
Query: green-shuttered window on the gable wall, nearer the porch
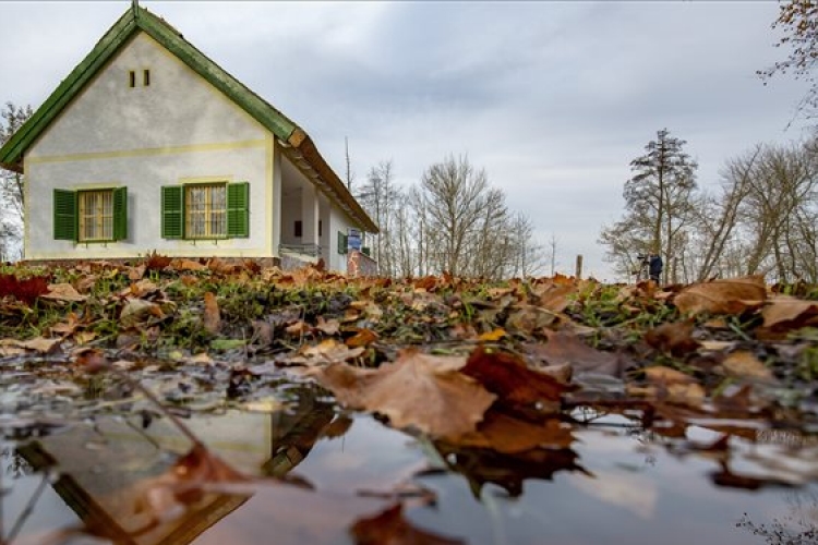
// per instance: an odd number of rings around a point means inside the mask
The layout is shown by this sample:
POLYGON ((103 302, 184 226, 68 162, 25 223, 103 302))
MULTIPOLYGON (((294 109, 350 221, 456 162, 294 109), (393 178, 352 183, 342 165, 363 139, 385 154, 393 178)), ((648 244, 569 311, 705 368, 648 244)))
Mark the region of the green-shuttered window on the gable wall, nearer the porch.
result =
POLYGON ((191 240, 250 237, 250 184, 164 186, 161 235, 191 240))

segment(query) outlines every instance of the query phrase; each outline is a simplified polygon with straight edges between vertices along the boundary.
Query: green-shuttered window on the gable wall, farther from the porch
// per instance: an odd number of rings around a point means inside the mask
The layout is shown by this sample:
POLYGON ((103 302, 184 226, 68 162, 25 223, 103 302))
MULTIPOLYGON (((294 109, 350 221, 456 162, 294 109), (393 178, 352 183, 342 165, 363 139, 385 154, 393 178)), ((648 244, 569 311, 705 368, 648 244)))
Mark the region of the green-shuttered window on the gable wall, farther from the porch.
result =
POLYGON ((74 242, 127 239, 128 190, 55 190, 53 238, 74 242))

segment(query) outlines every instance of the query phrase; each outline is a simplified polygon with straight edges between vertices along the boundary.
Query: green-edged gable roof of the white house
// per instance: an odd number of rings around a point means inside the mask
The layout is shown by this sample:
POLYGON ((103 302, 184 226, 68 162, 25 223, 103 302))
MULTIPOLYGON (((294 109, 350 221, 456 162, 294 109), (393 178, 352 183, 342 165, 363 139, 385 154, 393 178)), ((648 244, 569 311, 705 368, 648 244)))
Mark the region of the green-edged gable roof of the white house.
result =
MULTIPOLYGON (((178 57, 194 72, 224 93, 228 98, 246 111, 253 119, 270 131, 277 138, 289 146, 300 148, 306 144, 313 147, 306 133, 270 106, 262 97, 250 90, 244 84, 226 72, 164 19, 154 15, 145 8, 133 5, 119 17, 110 29, 94 46, 94 49, 77 64, 37 111, 26 121, 9 141, 0 147, 0 166, 15 172, 23 171, 23 157, 34 142, 48 129, 52 121, 80 95, 82 89, 103 70, 106 64, 140 31, 149 35, 168 51, 178 57)), ((322 174, 326 184, 332 187, 330 198, 346 204, 351 217, 360 221, 368 231, 377 232, 377 226, 360 207, 347 191, 338 175, 326 165, 315 150, 314 160, 310 164, 322 174)))

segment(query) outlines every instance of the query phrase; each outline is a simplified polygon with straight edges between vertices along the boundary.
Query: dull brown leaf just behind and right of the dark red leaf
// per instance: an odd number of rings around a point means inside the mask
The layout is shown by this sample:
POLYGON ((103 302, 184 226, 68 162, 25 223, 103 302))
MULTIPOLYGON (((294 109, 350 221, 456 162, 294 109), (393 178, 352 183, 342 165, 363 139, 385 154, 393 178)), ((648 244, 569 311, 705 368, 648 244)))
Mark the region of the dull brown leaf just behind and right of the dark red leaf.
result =
POLYGON ((578 373, 622 376, 624 361, 618 354, 596 350, 568 331, 546 329, 544 334, 548 342, 526 344, 526 353, 549 365, 570 365, 578 373))

